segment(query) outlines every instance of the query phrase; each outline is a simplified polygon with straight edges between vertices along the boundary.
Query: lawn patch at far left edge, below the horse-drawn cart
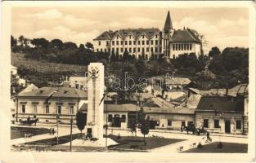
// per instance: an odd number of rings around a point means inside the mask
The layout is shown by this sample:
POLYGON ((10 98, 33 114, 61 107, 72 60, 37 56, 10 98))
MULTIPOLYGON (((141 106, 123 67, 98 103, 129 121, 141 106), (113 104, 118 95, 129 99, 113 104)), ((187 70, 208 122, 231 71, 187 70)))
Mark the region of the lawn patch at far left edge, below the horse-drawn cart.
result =
POLYGON ((11 139, 24 138, 25 134, 47 134, 48 129, 45 128, 29 128, 29 127, 13 127, 11 126, 11 139))

